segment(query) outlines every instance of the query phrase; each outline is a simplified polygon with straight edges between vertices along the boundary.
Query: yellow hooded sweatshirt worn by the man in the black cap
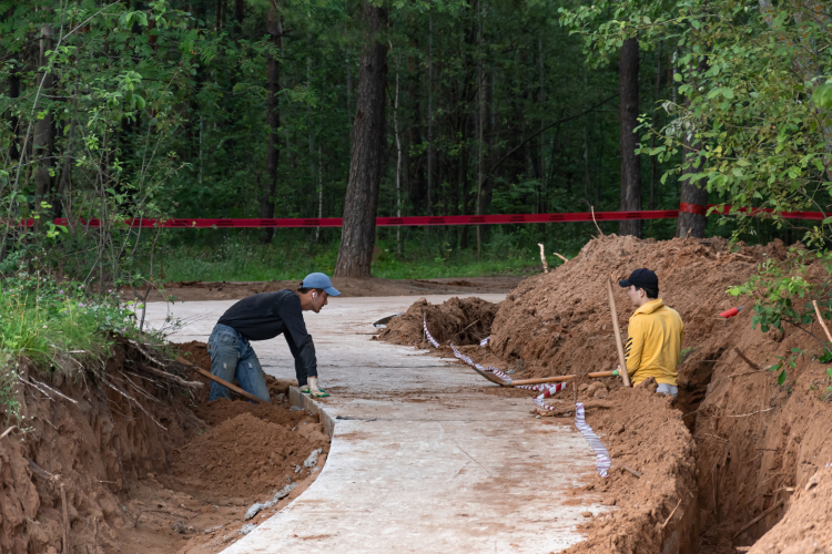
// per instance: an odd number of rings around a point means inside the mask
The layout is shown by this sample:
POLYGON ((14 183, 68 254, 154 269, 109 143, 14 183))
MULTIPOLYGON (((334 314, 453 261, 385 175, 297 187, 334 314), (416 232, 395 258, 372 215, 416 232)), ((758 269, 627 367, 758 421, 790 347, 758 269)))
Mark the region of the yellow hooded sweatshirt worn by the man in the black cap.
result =
POLYGON ((657 382, 676 387, 676 368, 684 336, 679 314, 664 306, 661 298, 651 300, 630 317, 627 335, 625 357, 632 384, 655 377, 657 382))

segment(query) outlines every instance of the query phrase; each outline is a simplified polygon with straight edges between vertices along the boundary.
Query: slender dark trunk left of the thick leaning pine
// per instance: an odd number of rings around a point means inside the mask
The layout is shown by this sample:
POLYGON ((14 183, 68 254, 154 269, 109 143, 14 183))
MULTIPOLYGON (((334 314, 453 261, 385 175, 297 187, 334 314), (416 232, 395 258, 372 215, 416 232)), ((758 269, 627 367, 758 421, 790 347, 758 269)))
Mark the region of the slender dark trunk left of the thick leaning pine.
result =
MULTIPOLYGON (((277 10, 272 8, 266 17, 266 30, 271 35, 271 41, 275 47, 280 47, 282 40, 277 32, 277 10)), ((274 217, 274 195, 277 192, 277 162, 281 155, 280 136, 277 130, 281 126, 281 113, 277 110, 277 93, 281 90, 280 83, 280 63, 276 58, 268 55, 266 59, 268 65, 267 86, 268 96, 266 98, 266 125, 268 126, 268 137, 266 141, 266 176, 263 181, 263 195, 260 199, 260 216, 264 219, 274 217)), ((274 236, 274 228, 267 227, 263 233, 263 242, 270 243, 274 236)))

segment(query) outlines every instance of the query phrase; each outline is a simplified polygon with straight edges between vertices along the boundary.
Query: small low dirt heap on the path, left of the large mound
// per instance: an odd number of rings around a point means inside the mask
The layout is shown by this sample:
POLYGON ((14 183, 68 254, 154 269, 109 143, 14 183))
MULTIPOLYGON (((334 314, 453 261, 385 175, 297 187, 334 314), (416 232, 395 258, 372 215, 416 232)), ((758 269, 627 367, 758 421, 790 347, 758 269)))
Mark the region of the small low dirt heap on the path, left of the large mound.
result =
POLYGON ((393 318, 379 338, 394 345, 422 345, 422 322, 439 342, 479 345, 488 336, 499 305, 481 298, 451 298, 439 305, 419 298, 407 311, 393 318))

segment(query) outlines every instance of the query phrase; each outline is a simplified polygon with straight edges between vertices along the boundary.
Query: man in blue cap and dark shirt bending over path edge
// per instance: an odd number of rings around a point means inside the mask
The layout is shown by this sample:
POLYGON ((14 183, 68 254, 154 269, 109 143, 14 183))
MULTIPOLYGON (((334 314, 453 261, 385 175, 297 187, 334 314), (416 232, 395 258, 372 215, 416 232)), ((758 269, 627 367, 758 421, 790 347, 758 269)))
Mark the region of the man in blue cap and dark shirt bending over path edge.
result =
MULTIPOLYGON (((315 314, 327 298, 338 296, 329 278, 321 273, 307 275, 297 291, 283 289, 250 296, 229 308, 209 338, 211 372, 232 382, 234 378, 246 392, 268 402, 268 389, 250 340, 268 340, 283 334, 295 358, 295 373, 301 391, 312 397, 328 397, 317 384, 315 345, 306 332, 303 312, 315 314)), ((229 398, 227 387, 211 382, 209 400, 229 398)))

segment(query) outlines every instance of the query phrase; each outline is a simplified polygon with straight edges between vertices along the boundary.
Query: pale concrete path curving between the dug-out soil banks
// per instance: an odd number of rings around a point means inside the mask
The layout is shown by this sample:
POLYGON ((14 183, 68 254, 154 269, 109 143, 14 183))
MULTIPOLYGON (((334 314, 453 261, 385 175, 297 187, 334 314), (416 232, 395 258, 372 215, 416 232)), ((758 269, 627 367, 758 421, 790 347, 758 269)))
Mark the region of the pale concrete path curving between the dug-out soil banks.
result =
MULTIPOLYGON (((333 298, 304 314, 325 410, 343 419, 313 485, 225 553, 548 553, 581 541, 581 513, 603 507, 566 492, 595 471, 592 450, 461 365, 371 340, 372 321, 415 299, 333 298)), ((170 310, 187 321, 173 340, 204 341, 232 304, 151 304, 149 317, 159 326, 170 310)), ((294 378, 282 337, 254 349, 267 373, 294 378)))

